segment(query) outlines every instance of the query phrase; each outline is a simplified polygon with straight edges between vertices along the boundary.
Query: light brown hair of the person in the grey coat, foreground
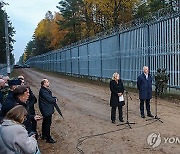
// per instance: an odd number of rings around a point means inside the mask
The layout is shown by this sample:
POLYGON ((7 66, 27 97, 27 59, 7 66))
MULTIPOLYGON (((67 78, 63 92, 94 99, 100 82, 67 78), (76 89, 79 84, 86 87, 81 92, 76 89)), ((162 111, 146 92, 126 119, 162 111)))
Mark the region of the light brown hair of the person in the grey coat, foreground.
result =
POLYGON ((22 123, 26 115, 27 115, 27 110, 24 108, 24 106, 17 105, 6 113, 5 118, 22 123))

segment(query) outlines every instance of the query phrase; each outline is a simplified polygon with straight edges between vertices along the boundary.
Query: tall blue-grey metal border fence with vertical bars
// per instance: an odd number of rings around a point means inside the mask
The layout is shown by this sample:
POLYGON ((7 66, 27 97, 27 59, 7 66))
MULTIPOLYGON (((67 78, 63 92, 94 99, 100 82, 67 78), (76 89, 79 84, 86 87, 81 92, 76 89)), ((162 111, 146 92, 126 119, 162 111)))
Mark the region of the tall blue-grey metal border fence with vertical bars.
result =
POLYGON ((79 76, 135 82, 144 65, 166 68, 169 85, 180 88, 180 12, 29 59, 31 67, 79 76))

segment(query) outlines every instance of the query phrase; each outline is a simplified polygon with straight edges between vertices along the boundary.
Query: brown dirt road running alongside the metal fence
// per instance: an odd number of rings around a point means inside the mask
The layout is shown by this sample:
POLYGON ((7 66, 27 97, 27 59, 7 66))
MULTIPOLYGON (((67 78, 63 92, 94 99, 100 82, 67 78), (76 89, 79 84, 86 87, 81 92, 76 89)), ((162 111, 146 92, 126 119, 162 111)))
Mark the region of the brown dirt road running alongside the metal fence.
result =
MULTIPOLYGON (((111 123, 108 87, 70 81, 33 69, 19 69, 16 73, 27 77, 27 82, 36 96, 38 96, 41 79, 48 78, 50 89, 54 96, 58 97, 64 114, 64 120, 59 117, 57 112, 53 116, 52 136, 57 143, 48 144, 39 140, 43 154, 78 154, 80 153, 76 148, 78 138, 83 136, 91 136, 80 139, 83 142, 79 143, 78 147, 81 149, 79 151, 85 154, 180 153, 180 143, 178 143, 178 139, 180 139, 180 105, 178 104, 159 100, 158 116, 164 123, 154 120, 146 121, 148 118, 142 119, 139 115, 138 95, 130 93, 132 100, 129 100, 129 121, 136 124, 131 125, 132 129, 129 129, 126 125, 117 126, 118 122, 111 123), (151 133, 160 133, 161 135, 161 144, 156 148, 147 144, 147 137, 151 133), (101 135, 95 136, 96 134, 101 135)), ((152 113, 154 113, 154 101, 152 99, 152 113)), ((125 117, 126 107, 123 110, 125 117)), ((126 120, 126 118, 124 119, 126 120)), ((38 122, 38 125, 40 128, 41 122, 38 122)))

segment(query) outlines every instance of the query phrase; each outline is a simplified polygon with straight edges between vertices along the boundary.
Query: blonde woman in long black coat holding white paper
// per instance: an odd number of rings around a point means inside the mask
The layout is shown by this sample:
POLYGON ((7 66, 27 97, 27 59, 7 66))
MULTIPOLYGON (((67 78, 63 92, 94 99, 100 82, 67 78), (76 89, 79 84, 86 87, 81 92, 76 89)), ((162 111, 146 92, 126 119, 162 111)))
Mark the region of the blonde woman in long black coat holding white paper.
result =
POLYGON ((123 113, 122 113, 122 102, 119 102, 119 97, 122 96, 124 93, 124 86, 117 72, 113 74, 112 80, 110 81, 110 90, 111 90, 110 106, 111 106, 112 123, 115 123, 116 120, 117 107, 119 110, 119 121, 124 122, 123 113))

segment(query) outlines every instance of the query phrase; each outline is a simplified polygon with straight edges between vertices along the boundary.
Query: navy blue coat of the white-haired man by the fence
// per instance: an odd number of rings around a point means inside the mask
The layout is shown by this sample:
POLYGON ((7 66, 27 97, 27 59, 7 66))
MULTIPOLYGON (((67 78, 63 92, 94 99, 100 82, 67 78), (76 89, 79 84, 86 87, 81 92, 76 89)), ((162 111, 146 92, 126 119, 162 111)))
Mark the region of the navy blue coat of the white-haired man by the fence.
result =
POLYGON ((152 77, 148 74, 148 79, 144 73, 137 78, 137 87, 139 90, 139 99, 151 99, 152 98, 152 77))

